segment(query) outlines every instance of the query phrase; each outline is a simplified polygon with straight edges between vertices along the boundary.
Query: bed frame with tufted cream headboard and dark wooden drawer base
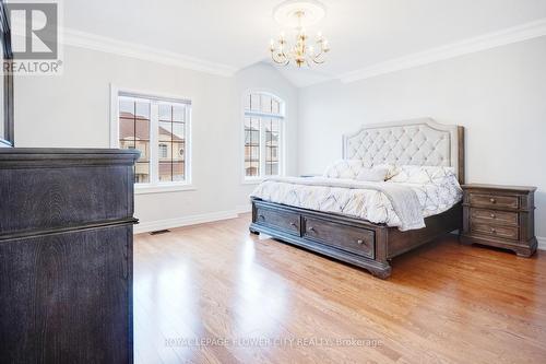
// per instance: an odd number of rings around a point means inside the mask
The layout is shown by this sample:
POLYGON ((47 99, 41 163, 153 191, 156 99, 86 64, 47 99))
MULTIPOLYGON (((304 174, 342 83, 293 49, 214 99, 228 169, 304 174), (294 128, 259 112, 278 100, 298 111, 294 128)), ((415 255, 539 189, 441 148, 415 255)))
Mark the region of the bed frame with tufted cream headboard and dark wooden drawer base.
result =
MULTIPOLYGON (((464 183, 464 129, 441 125, 429 118, 365 126, 343 137, 342 154, 344 160, 361 161, 370 167, 383 164, 451 167, 459 184, 464 183)), ((278 188, 283 183, 317 185, 305 187, 314 189, 327 184, 320 180, 269 181, 270 185, 274 183, 280 184, 278 188)), ((275 188, 274 185, 263 185, 262 189, 264 186, 275 188)), ((336 181, 334 186, 346 188, 352 193, 360 187, 344 180, 336 181)), ((361 189, 369 187, 381 190, 383 186, 368 184, 361 189)), ((305 203, 292 204, 286 200, 257 195, 264 196, 253 193, 251 197, 251 233, 268 234, 275 239, 367 269, 382 279, 391 274, 392 258, 462 227, 460 202, 439 210, 440 213, 426 215, 424 227, 414 225, 402 228, 400 224, 371 222, 376 219, 366 219, 369 215, 340 213, 335 209, 320 211, 305 203)))

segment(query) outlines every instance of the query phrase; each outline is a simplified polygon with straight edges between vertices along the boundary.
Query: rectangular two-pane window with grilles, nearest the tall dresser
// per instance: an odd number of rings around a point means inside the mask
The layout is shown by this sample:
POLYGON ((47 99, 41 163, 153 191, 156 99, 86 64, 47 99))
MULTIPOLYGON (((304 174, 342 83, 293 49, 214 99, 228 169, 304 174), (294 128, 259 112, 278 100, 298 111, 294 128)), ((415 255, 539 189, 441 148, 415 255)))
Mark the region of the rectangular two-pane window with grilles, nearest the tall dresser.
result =
POLYGON ((191 103, 123 92, 117 98, 118 146, 141 152, 135 184, 189 184, 191 103))

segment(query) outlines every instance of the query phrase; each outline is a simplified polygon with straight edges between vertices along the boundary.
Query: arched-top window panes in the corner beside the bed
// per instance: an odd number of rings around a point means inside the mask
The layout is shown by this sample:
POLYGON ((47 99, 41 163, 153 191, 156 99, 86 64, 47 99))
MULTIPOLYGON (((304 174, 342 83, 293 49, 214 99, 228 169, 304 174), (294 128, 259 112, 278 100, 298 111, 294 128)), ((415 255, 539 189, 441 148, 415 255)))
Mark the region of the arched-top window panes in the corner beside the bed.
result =
POLYGON ((282 174, 284 103, 268 93, 245 97, 245 178, 282 174))

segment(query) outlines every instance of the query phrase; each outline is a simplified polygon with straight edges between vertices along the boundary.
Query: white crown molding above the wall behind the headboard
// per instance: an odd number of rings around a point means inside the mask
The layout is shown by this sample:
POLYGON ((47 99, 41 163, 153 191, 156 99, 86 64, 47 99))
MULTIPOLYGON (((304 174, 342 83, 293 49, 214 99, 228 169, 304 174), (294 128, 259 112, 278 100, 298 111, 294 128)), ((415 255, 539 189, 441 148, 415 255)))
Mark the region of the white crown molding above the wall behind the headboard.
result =
POLYGON ((356 71, 341 74, 339 79, 344 83, 355 82, 380 74, 434 63, 444 59, 527 40, 544 35, 546 35, 546 19, 541 19, 538 21, 509 27, 499 32, 488 33, 441 47, 390 59, 384 62, 379 62, 356 71))

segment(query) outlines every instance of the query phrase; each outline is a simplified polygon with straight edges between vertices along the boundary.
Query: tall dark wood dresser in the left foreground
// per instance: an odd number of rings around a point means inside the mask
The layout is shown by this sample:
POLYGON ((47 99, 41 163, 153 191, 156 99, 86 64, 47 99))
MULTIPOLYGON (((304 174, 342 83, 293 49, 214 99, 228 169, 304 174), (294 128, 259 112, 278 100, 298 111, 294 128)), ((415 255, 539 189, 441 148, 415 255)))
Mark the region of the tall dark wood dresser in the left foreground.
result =
POLYGON ((1 363, 132 363, 138 156, 0 149, 1 363))

